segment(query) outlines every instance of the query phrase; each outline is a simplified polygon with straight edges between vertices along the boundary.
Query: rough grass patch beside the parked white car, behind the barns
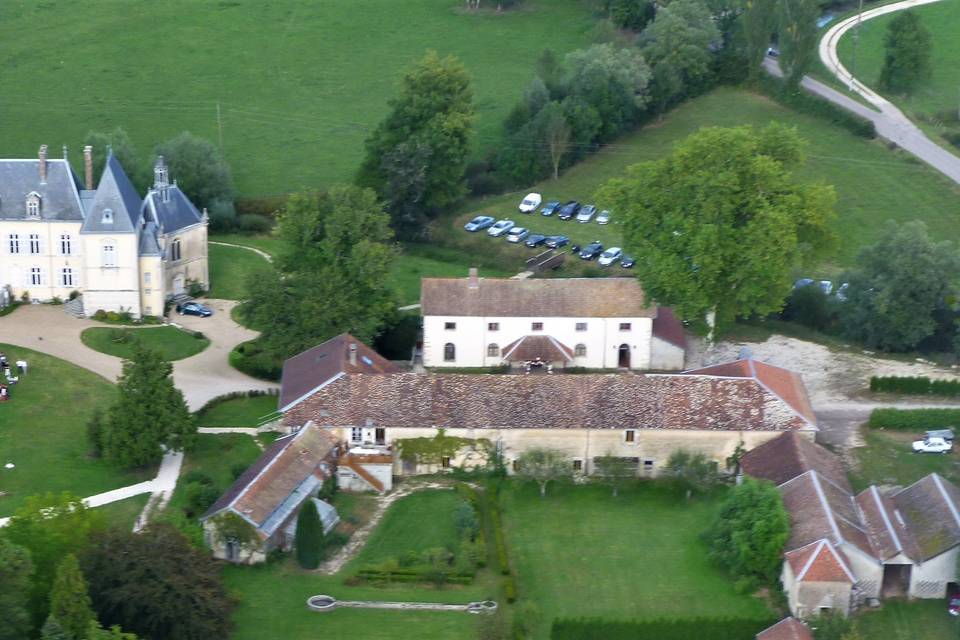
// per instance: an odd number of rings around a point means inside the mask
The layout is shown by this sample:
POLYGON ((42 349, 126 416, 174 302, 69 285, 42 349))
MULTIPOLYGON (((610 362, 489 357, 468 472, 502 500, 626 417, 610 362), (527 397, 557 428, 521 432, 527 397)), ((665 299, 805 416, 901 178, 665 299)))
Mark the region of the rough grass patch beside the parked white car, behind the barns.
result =
POLYGON ((865 447, 853 449, 856 469, 850 482, 857 491, 871 484, 913 484, 927 474, 936 472, 951 482, 960 482, 960 454, 914 453, 910 443, 921 439, 922 433, 879 431, 863 428, 865 447))

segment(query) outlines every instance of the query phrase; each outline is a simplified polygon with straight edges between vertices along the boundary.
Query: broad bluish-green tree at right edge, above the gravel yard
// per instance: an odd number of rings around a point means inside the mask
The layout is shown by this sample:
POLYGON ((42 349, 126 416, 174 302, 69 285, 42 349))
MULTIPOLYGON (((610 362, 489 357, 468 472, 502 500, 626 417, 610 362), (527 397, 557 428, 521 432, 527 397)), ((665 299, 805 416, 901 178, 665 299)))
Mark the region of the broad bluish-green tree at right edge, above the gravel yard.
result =
POLYGON ((907 351, 933 335, 956 298, 960 254, 934 242, 915 220, 888 222, 883 235, 857 256, 843 304, 845 333, 871 348, 907 351))

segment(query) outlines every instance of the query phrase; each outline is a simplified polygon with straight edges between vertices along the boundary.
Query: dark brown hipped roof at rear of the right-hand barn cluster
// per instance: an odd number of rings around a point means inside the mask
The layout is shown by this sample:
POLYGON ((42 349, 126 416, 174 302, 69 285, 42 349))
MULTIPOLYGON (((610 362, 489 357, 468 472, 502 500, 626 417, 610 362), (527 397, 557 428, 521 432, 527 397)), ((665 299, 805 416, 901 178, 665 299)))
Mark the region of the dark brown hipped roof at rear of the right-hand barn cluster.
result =
POLYGON ((840 458, 794 431, 751 449, 741 465, 744 473, 776 485, 815 469, 833 484, 852 491, 840 458))

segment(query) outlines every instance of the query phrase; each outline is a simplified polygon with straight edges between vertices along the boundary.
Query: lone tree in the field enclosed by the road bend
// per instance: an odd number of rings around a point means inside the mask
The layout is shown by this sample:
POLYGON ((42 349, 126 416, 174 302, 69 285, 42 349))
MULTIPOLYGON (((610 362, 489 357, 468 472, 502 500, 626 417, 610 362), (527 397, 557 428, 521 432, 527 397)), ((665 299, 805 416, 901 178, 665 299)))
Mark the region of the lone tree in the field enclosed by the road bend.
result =
POLYGON ((880 86, 884 89, 908 93, 930 77, 930 32, 916 12, 902 11, 890 21, 883 47, 880 86))

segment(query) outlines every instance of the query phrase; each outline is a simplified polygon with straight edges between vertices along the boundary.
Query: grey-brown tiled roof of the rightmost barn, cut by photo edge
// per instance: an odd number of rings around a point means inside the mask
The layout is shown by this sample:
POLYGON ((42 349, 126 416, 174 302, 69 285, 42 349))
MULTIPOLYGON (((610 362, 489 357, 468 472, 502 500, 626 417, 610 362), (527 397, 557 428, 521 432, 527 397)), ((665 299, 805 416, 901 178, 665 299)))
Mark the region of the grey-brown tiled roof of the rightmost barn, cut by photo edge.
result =
POLYGON ((960 491, 936 473, 891 498, 894 519, 913 534, 919 561, 935 558, 960 544, 960 491))

